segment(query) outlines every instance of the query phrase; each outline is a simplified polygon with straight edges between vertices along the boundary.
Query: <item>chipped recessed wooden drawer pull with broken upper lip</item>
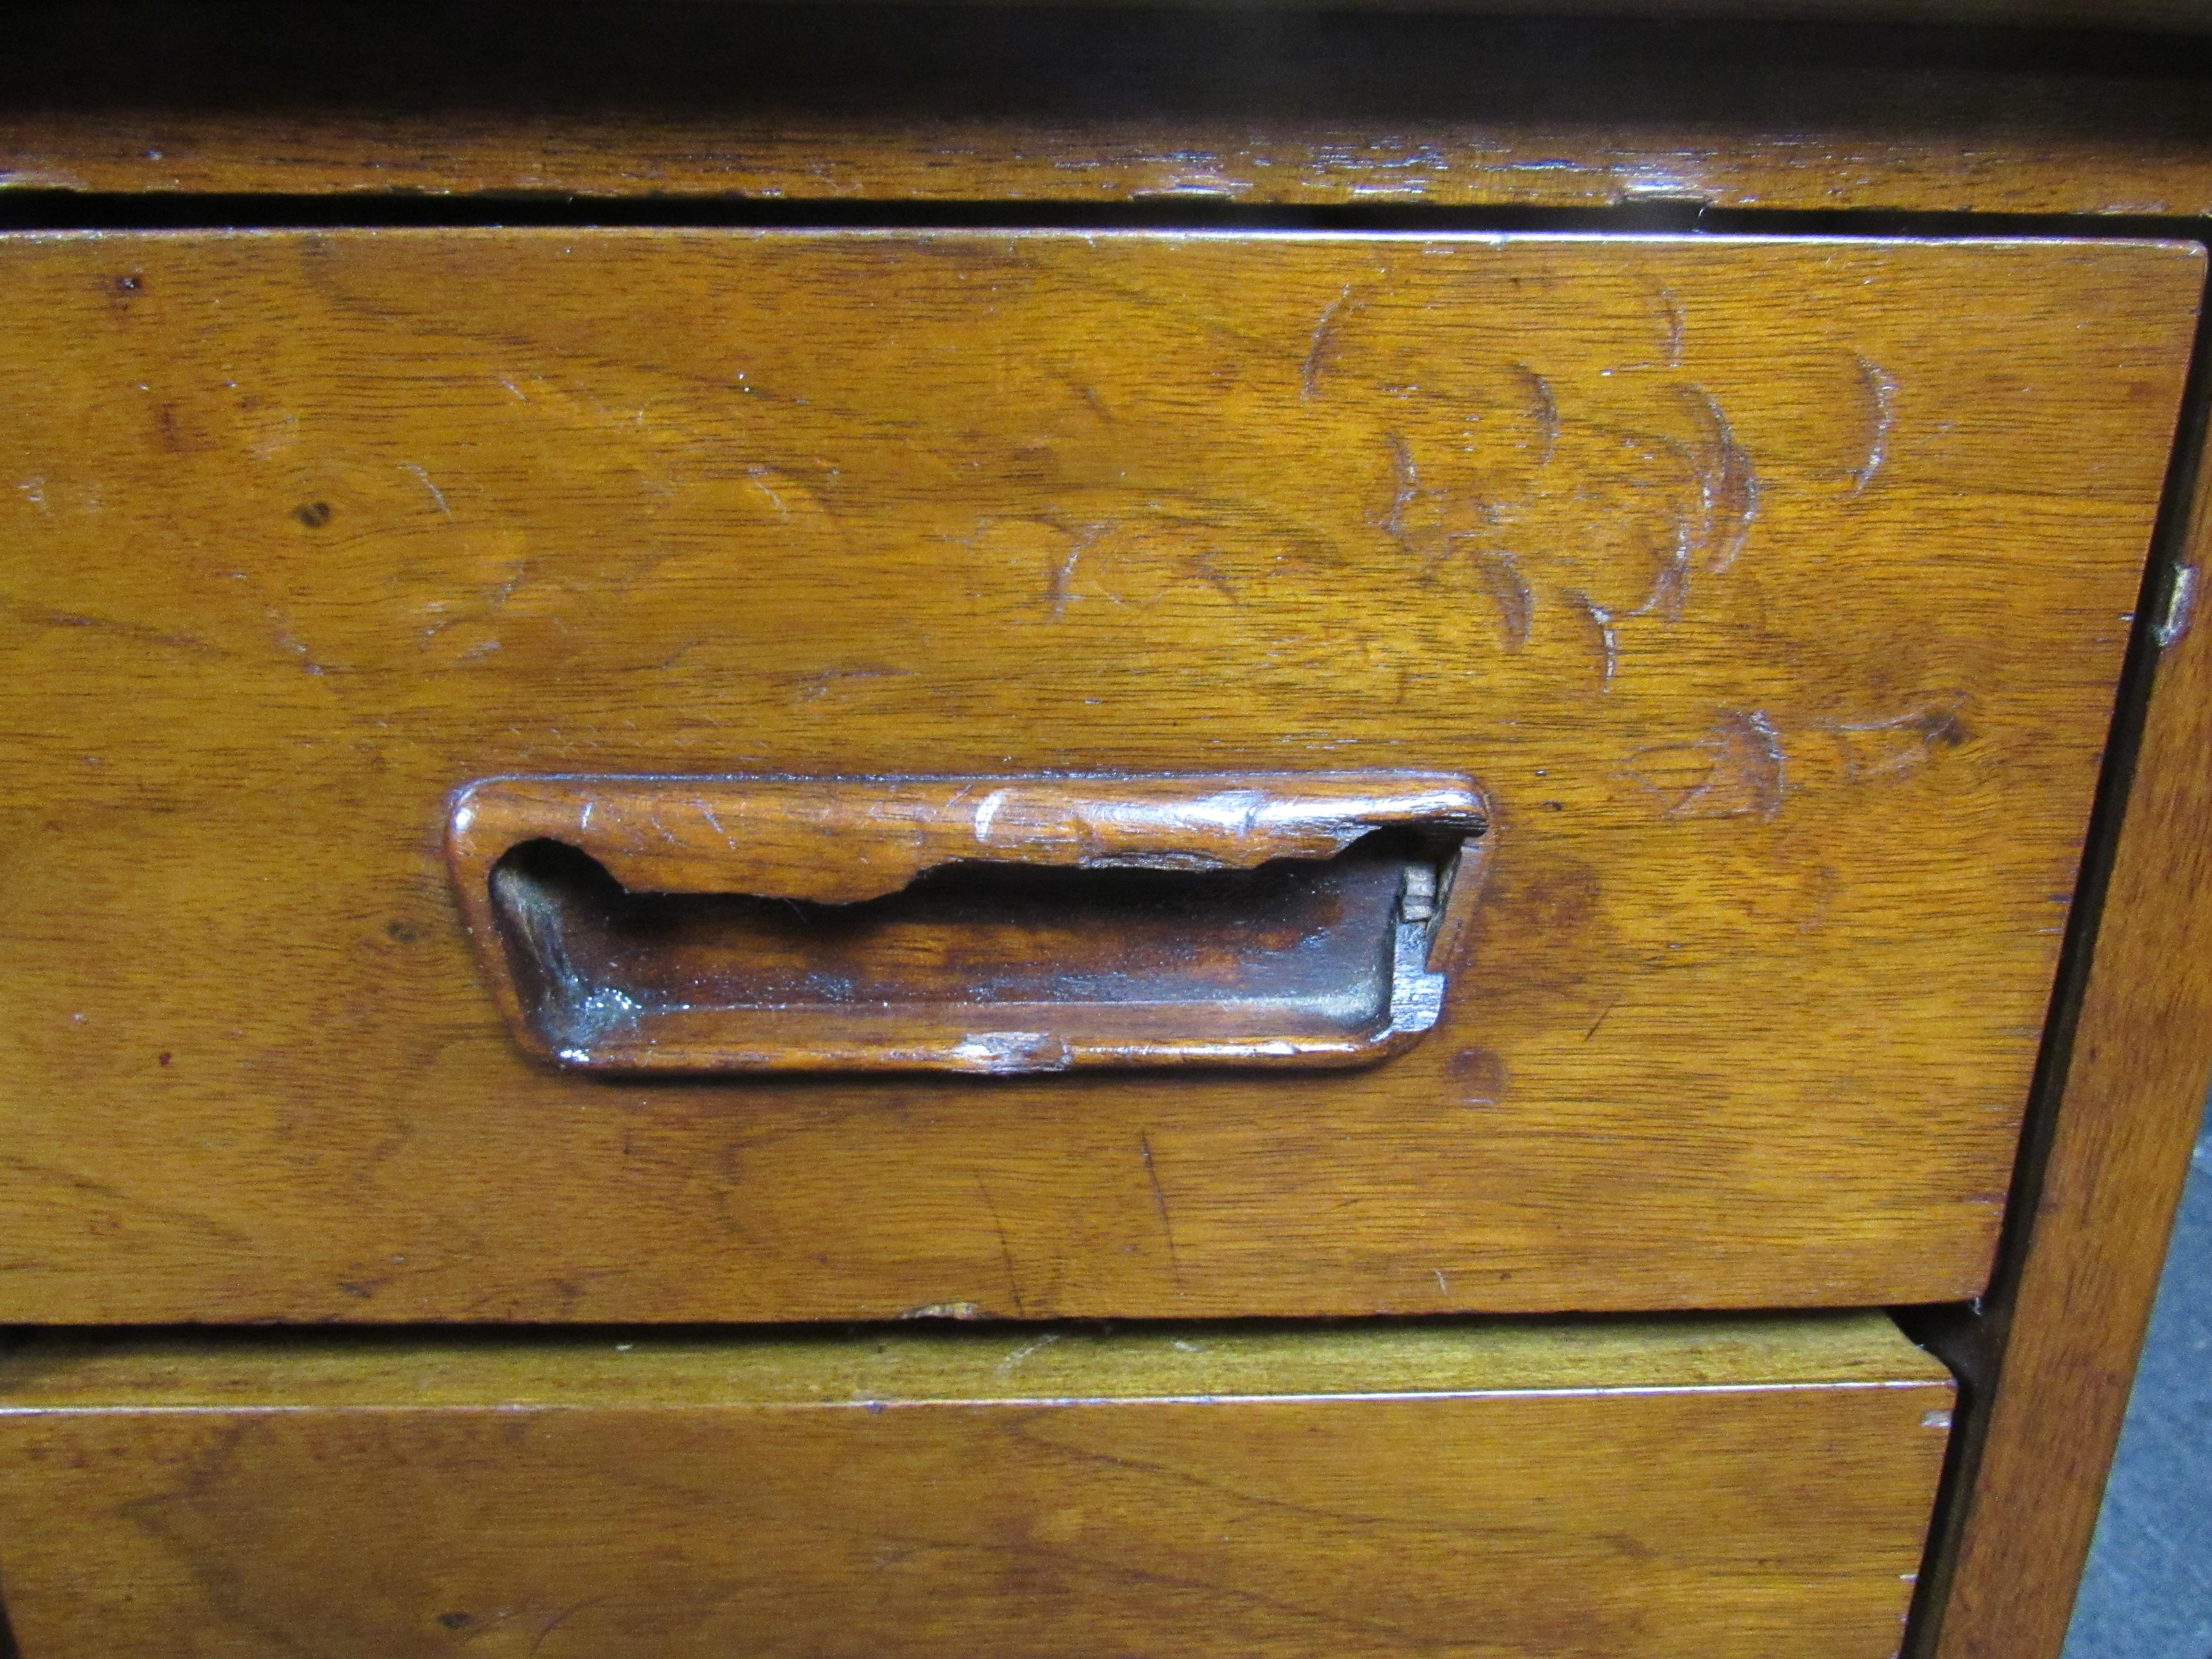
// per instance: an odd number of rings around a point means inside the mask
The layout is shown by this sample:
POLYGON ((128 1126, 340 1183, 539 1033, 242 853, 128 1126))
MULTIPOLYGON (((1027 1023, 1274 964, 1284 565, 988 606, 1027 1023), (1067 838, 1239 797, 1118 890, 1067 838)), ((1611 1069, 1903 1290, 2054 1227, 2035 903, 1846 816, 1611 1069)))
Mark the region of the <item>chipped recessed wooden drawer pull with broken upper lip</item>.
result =
POLYGON ((447 852, 562 1066, 1349 1066, 1436 1024, 1486 823, 1449 772, 551 776, 447 852))

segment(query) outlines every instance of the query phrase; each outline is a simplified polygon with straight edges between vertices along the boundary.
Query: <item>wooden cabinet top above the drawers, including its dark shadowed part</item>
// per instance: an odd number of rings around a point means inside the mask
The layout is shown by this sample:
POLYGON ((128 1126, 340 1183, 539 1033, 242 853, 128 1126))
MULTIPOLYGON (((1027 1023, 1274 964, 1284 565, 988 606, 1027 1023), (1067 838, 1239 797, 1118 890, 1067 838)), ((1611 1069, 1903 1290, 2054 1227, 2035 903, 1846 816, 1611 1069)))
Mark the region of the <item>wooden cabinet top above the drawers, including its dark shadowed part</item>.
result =
POLYGON ((11 35, 0 186, 2203 215, 2192 73, 2192 40, 1863 24, 82 4, 11 35))

